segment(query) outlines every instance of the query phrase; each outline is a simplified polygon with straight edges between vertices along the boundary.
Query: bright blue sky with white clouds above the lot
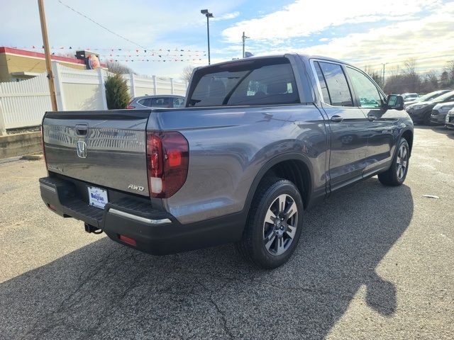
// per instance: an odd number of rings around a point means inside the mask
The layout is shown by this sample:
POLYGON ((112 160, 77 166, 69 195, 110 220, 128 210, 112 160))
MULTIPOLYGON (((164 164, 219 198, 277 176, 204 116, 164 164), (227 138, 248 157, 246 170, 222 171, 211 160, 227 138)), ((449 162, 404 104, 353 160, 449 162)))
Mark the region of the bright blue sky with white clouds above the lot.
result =
MULTIPOLYGON (((121 61, 138 74, 179 78, 187 65, 207 64, 204 8, 214 14, 211 63, 241 57, 243 31, 253 55, 324 55, 377 72, 386 64, 387 73, 409 58, 420 72, 439 72, 454 60, 454 1, 448 0, 44 2, 52 52, 89 48, 101 61, 121 61)), ((0 46, 39 52, 38 2, 0 0, 0 9, 0 46)))

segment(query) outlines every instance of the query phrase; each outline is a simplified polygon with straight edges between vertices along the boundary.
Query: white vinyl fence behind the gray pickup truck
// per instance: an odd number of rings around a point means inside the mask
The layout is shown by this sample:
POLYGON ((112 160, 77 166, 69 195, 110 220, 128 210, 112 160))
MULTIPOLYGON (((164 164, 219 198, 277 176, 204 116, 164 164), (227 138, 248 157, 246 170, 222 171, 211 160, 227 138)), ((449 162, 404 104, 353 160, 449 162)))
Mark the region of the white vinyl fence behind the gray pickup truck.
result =
MULTIPOLYGON (((104 69, 73 69, 52 62, 59 111, 107 110, 104 69)), ((7 129, 40 125, 52 111, 47 74, 18 82, 0 83, 0 135, 7 129)), ((153 94, 186 94, 187 84, 165 77, 124 74, 131 97, 153 94)))

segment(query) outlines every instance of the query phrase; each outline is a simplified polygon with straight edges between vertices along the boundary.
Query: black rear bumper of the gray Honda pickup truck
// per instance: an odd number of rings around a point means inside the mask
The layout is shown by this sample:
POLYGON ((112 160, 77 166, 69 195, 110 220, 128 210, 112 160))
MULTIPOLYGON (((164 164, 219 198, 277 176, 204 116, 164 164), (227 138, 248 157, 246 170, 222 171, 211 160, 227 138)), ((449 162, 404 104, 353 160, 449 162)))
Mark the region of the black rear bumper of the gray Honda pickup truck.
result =
POLYGON ((41 198, 58 215, 82 220, 102 229, 115 242, 149 254, 175 254, 236 242, 243 234, 240 213, 182 225, 170 213, 155 210, 134 196, 109 202, 103 210, 77 198, 71 181, 50 177, 39 181, 41 198), (133 239, 135 245, 123 242, 120 235, 133 239))

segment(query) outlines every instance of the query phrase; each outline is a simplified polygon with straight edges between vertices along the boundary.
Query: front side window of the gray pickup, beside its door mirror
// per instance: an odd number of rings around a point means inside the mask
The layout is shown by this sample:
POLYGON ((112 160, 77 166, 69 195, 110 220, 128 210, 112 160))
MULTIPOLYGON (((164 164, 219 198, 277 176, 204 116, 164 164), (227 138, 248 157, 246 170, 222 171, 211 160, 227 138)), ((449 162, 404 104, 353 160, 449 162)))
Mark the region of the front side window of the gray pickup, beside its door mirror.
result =
POLYGON ((382 99, 377 86, 357 69, 347 67, 347 73, 352 81, 355 94, 360 100, 358 106, 362 108, 381 108, 382 99))

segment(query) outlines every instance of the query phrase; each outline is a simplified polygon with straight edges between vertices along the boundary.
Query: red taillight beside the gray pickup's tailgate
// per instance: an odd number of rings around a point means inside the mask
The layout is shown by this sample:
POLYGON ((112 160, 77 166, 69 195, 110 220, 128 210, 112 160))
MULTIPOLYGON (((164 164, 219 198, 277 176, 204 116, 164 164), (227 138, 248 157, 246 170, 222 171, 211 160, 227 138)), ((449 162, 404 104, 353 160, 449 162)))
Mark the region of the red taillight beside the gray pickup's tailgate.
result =
POLYGON ((186 181, 189 145, 179 132, 147 132, 150 196, 168 198, 186 181))

